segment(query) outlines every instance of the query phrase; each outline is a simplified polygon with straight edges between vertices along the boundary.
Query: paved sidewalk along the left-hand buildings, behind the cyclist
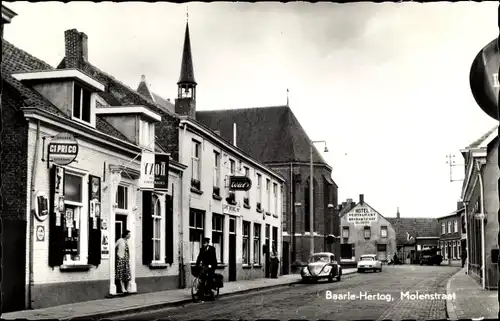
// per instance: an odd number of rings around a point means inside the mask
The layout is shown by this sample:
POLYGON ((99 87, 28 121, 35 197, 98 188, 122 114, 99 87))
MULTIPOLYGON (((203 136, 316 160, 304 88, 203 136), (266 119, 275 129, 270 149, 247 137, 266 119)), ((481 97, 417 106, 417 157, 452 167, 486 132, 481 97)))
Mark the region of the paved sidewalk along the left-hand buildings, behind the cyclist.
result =
MULTIPOLYGON (((356 269, 346 269, 343 275, 356 273, 356 269)), ((220 297, 264 289, 276 288, 300 282, 300 274, 289 274, 277 279, 256 279, 226 282, 220 289, 220 297)), ((120 314, 159 309, 192 302, 191 288, 162 292, 141 293, 112 299, 78 302, 38 310, 24 310, 4 313, 2 319, 58 319, 110 318, 120 314)))

